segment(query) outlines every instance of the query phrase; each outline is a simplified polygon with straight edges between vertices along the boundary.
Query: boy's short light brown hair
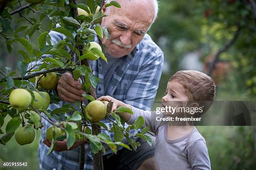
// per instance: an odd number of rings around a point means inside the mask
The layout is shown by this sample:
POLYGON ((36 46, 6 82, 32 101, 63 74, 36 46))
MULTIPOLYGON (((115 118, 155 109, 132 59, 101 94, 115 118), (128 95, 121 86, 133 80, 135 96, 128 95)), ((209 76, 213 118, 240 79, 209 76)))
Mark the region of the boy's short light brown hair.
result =
POLYGON ((182 70, 177 71, 169 81, 173 80, 182 84, 189 101, 201 101, 200 105, 205 107, 203 113, 210 108, 215 99, 216 87, 210 76, 195 70, 182 70))

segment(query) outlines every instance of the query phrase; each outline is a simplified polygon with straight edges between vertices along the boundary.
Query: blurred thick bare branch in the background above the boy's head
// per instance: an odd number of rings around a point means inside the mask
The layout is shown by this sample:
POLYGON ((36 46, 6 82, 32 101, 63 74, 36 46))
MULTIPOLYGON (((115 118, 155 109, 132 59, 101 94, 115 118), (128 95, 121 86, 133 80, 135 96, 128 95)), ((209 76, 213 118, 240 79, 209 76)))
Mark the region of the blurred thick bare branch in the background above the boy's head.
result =
POLYGON ((234 44, 234 42, 236 42, 236 39, 239 35, 239 32, 240 32, 241 28, 240 28, 240 25, 238 24, 237 25, 237 30, 236 32, 234 33, 234 36, 233 38, 222 48, 220 48, 220 50, 218 50, 218 52, 216 53, 215 57, 214 57, 214 60, 210 63, 210 67, 209 67, 209 70, 207 72, 207 75, 211 76, 212 75, 212 70, 214 69, 214 66, 216 64, 216 62, 218 61, 219 57, 220 57, 220 54, 222 52, 225 52, 226 50, 228 50, 228 48, 234 44))

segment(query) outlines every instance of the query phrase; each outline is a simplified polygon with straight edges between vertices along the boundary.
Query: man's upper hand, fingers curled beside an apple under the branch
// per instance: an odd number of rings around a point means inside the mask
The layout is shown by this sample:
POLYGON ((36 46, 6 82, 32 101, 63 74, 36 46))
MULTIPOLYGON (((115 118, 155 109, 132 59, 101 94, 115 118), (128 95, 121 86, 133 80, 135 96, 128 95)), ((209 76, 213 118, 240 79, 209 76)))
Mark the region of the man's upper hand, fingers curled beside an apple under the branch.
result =
POLYGON ((74 80, 69 72, 65 72, 59 78, 57 90, 59 97, 66 102, 74 102, 75 100, 84 100, 82 94, 85 92, 82 89, 82 85, 74 80))

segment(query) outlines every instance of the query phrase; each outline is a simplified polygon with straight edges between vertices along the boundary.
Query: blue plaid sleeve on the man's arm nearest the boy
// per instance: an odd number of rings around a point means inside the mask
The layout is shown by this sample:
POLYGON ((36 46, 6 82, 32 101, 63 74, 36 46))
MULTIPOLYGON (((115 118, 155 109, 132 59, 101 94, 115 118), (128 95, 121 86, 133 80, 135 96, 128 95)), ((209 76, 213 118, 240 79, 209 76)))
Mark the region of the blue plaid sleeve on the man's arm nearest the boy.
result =
POLYGON ((134 107, 150 110, 152 102, 156 97, 159 80, 162 73, 164 54, 152 56, 148 53, 138 74, 126 92, 123 102, 134 107))

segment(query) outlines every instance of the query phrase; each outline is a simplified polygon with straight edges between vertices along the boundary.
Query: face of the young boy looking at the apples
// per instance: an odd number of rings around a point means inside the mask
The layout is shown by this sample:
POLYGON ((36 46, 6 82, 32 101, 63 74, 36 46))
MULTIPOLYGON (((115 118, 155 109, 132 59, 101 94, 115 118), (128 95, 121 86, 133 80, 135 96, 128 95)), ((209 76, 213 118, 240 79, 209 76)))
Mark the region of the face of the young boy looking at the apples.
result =
MULTIPOLYGON (((165 96, 162 97, 162 107, 184 107, 189 100, 186 91, 178 80, 169 81, 167 84, 165 96)), ((168 116, 170 113, 164 113, 168 116)))

